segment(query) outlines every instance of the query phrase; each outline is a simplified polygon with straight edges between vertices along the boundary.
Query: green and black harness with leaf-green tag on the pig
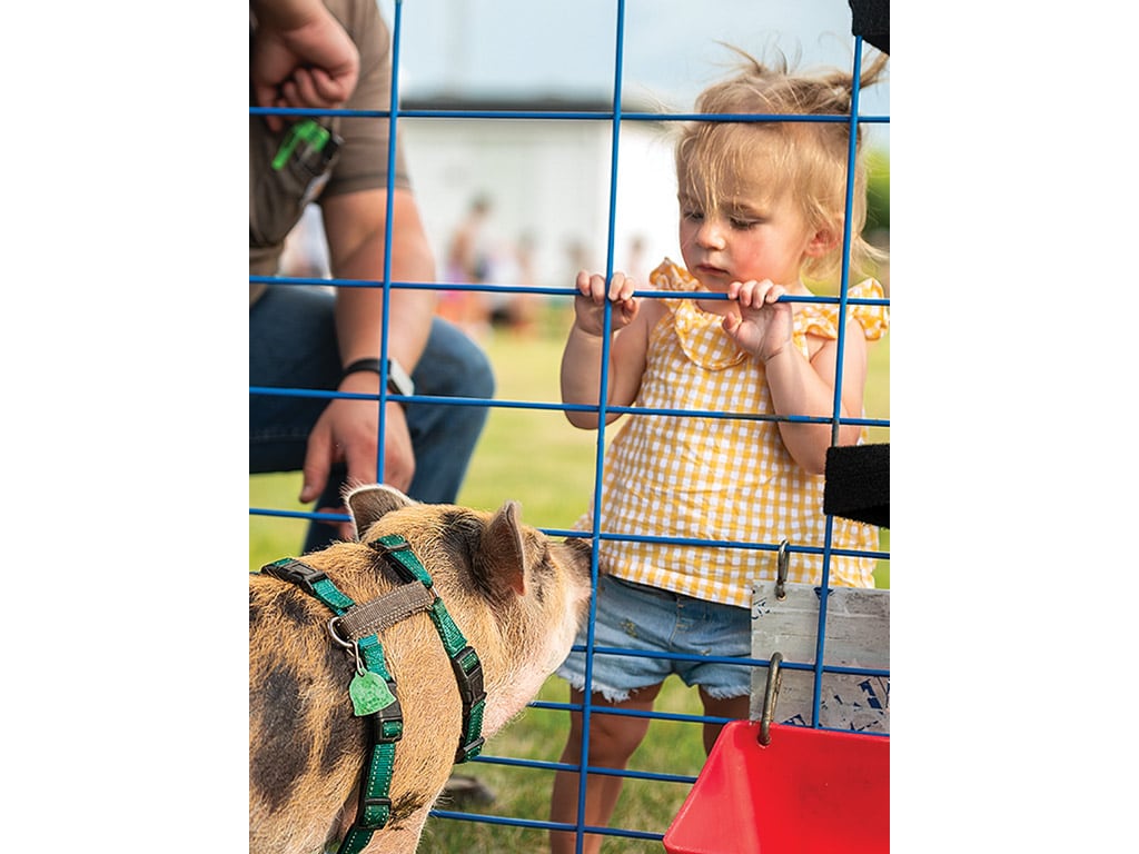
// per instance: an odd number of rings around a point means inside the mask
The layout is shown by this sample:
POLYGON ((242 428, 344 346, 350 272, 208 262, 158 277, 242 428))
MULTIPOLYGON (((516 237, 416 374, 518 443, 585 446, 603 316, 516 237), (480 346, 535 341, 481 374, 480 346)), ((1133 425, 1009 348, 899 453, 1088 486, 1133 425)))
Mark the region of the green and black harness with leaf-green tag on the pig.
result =
POLYGON ((486 693, 483 691, 483 667, 478 656, 451 619, 443 600, 433 589, 431 575, 411 551, 408 541, 402 536, 382 536, 368 545, 383 556, 404 583, 366 605, 357 605, 337 590, 327 575, 295 558, 281 558, 261 568, 273 577, 296 584, 326 605, 335 615, 328 622, 329 635, 355 656, 357 672, 349 685, 349 696, 353 713, 370 721, 369 761, 360 775, 355 821, 337 854, 358 854, 392 814, 388 789, 395 764, 395 742, 403 736, 403 714, 395 696, 395 680, 387 671, 376 632, 412 614, 427 611, 431 615, 451 659, 451 670, 462 698, 462 733, 454 762, 477 756, 483 747, 481 732, 486 693))

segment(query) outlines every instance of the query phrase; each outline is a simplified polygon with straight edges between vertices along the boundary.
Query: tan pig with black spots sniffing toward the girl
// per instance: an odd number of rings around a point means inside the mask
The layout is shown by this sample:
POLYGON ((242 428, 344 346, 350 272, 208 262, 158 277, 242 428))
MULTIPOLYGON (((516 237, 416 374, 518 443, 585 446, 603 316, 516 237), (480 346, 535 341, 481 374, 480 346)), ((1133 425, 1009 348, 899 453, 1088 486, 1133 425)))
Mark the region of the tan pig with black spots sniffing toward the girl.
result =
MULTIPOLYGON (((345 494, 355 541, 301 560, 362 605, 401 580, 367 545, 404 537, 483 667, 483 737, 523 711, 570 652, 590 597, 585 540, 557 542, 497 512, 424 504, 395 488, 345 494)), ((295 584, 249 574, 249 854, 336 851, 355 816, 368 759, 364 718, 353 714, 350 650, 328 633, 333 613, 295 584)), ((403 713, 391 818, 366 854, 411 854, 443 790, 462 730, 446 651, 426 613, 379 632, 403 713)))

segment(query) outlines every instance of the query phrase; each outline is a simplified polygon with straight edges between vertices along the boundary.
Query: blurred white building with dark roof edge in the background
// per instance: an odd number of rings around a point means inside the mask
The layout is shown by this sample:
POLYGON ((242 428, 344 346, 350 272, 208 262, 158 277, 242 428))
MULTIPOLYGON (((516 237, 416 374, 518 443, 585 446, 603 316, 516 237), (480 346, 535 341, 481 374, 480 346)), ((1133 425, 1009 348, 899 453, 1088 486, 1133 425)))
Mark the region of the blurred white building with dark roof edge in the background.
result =
MULTIPOLYGON (((605 114, 599 104, 482 101, 405 102, 427 110, 605 114)), ((644 108, 628 112, 647 112, 644 108)), ((604 118, 501 118, 407 116, 401 120, 405 156, 427 233, 445 278, 451 236, 473 199, 491 200, 486 223, 492 249, 506 261, 531 241, 540 287, 572 287, 581 265, 604 272, 608 253, 613 122, 604 118)), ((663 123, 621 123, 614 269, 647 272, 664 255, 679 260, 677 189, 663 123), (631 257, 636 239, 641 258, 631 257), (655 261, 654 261, 655 260, 655 261), (628 270, 636 263, 640 270, 628 270)), ((498 268, 509 270, 509 263, 498 268)), ((503 272, 503 278, 508 278, 503 272)), ((492 271, 493 280, 493 271, 492 271)), ((502 284, 513 284, 505 281, 502 284)))

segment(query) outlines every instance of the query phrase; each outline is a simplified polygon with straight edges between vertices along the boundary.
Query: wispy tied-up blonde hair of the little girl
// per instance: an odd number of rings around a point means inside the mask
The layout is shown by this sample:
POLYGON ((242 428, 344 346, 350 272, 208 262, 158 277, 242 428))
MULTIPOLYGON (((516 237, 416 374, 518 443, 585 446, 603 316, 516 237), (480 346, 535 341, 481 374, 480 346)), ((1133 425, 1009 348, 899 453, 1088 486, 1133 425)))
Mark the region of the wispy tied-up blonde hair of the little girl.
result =
MULTIPOLYGON (((853 79, 838 69, 814 75, 796 74, 785 57, 764 65, 748 54, 737 52, 743 63, 728 80, 705 89, 696 109, 708 115, 850 115, 853 79)), ((884 54, 865 66, 860 87, 879 82, 888 57, 884 54)), ((851 266, 867 270, 884 253, 861 236, 866 225, 867 165, 862 128, 854 159, 854 197, 851 204, 851 266)), ((770 196, 790 191, 801 205, 812 231, 829 230, 833 252, 809 257, 803 274, 827 280, 842 263, 843 217, 846 199, 846 162, 850 147, 849 122, 813 121, 710 121, 689 122, 681 128, 675 146, 677 178, 681 192, 704 188, 707 211, 716 210, 726 178, 762 173, 770 196)))

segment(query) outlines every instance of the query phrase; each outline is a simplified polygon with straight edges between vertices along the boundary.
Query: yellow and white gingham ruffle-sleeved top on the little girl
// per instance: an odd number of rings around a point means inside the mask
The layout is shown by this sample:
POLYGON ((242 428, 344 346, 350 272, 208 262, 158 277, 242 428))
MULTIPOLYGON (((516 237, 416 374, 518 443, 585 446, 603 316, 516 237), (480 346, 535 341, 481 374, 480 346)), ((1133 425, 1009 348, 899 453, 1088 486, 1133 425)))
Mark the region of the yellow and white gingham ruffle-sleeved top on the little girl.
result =
MULTIPOLYGON (((703 289, 687 270, 665 261, 649 276, 656 290, 703 289)), ((867 279, 852 298, 883 298, 867 279)), ((665 317, 649 334, 647 364, 634 405, 771 413, 762 363, 739 350, 719 314, 695 299, 664 299, 665 317)), ((850 305, 869 340, 888 325, 885 306, 850 305)), ((838 305, 797 303, 793 339, 804 354, 806 334, 838 336, 838 305)), ((850 327, 847 327, 850 329, 850 327)), ((822 548, 822 475, 809 475, 784 447, 773 421, 628 413, 606 452, 601 484, 604 534, 675 536, 822 548)), ((867 438, 862 429, 861 441, 867 438)), ((576 523, 592 528, 592 507, 576 523)), ((834 517, 831 547, 878 550, 878 529, 834 517)), ((601 572, 697 599, 751 606, 755 578, 773 580, 776 552, 730 547, 601 540, 601 572)), ((872 588, 872 558, 830 558, 833 586, 872 588)), ((789 552, 789 582, 819 584, 822 556, 789 552)))

